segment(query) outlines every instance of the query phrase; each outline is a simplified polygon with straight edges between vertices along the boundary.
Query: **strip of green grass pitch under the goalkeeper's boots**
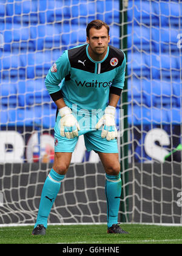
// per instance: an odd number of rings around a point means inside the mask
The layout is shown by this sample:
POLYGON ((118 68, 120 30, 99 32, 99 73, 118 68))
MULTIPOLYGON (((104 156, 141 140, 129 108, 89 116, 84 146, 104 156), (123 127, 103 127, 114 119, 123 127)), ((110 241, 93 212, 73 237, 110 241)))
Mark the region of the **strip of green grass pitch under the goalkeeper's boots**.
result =
POLYGON ((182 244, 182 226, 121 224, 129 234, 107 234, 107 226, 48 226, 45 236, 31 235, 33 226, 0 227, 0 244, 182 244))

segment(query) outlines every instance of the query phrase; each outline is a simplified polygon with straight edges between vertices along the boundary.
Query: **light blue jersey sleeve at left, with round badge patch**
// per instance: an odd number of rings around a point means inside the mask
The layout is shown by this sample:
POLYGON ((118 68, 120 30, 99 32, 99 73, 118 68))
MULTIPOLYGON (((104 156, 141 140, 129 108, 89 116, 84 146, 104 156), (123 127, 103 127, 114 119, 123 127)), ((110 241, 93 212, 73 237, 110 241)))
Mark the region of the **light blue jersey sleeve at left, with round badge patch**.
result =
MULTIPOLYGON (((49 69, 49 73, 45 78, 45 87, 50 96, 54 95, 58 97, 56 92, 60 91, 59 84, 70 73, 70 62, 67 51, 64 51, 61 57, 52 65, 49 69)), ((58 97, 59 98, 59 97, 58 97)), ((61 98, 61 97, 60 97, 61 98)), ((55 100, 53 98, 53 100, 55 100)))

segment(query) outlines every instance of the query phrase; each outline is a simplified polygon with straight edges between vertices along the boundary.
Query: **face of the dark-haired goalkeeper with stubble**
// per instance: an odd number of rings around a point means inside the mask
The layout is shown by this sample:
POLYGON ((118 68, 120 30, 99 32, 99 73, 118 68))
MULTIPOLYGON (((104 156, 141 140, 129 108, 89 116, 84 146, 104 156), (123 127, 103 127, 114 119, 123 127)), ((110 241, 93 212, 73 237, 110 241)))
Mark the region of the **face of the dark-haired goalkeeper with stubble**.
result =
POLYGON ((101 29, 95 29, 92 27, 89 30, 87 43, 89 43, 90 51, 93 55, 105 55, 109 42, 110 36, 108 36, 106 27, 103 26, 101 29))

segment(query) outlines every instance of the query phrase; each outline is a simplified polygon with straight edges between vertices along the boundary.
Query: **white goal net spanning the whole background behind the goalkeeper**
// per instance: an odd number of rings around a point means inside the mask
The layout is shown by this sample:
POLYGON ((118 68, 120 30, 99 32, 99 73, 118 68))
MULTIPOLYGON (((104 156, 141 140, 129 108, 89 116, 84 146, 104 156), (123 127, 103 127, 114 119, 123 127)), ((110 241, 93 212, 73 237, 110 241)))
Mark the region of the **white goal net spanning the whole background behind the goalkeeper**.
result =
MULTIPOLYGON (((181 16, 180 1, 1 1, 0 224, 35 223, 54 157, 56 106, 44 79, 65 49, 86 43, 94 19, 127 56, 115 116, 124 128, 119 220, 182 222, 181 16)), ((98 155, 80 137, 49 223, 106 222, 104 186, 98 155)))

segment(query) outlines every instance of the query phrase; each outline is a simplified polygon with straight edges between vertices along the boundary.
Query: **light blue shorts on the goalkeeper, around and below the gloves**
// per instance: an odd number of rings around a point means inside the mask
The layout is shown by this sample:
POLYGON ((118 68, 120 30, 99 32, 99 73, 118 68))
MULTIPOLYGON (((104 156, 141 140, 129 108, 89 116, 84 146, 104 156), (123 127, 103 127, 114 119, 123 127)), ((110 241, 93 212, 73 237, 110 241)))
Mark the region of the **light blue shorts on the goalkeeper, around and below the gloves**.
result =
MULTIPOLYGON (((67 139, 60 135, 59 130, 59 115, 55 123, 55 152, 73 152, 75 150, 78 137, 67 139)), ((84 142, 87 151, 103 152, 103 153, 118 153, 117 140, 107 141, 106 138, 101 138, 102 129, 82 129, 79 130, 79 135, 84 135, 84 142)))

